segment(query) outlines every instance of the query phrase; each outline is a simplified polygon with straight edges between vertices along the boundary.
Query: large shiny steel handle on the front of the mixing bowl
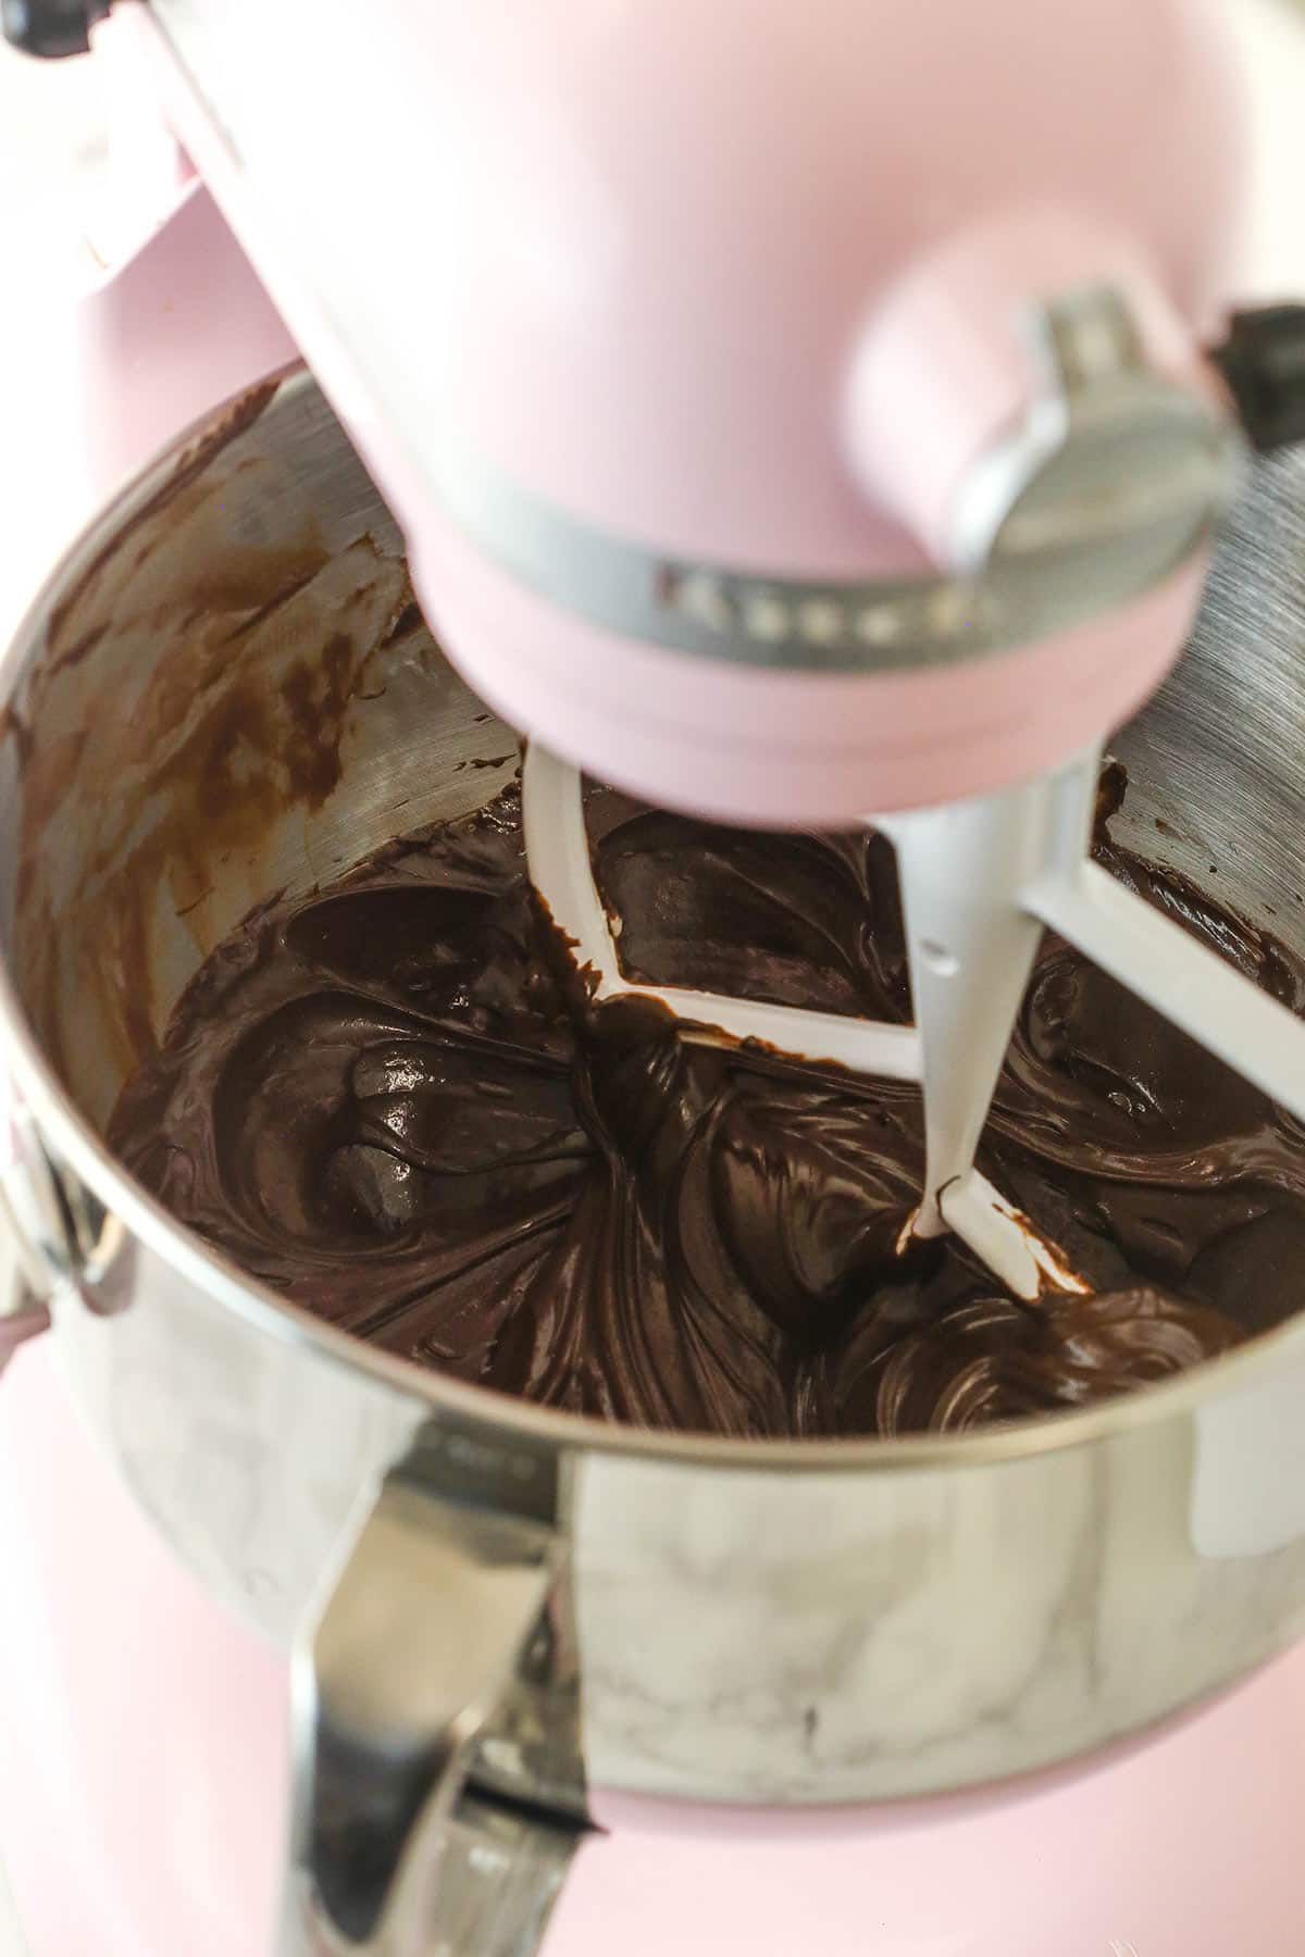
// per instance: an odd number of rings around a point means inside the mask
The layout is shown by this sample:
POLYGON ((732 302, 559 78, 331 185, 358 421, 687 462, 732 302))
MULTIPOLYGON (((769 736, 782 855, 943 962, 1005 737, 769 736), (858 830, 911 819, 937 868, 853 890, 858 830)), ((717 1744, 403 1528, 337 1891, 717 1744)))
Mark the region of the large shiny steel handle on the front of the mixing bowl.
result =
POLYGON ((446 1421, 368 1497, 292 1658, 282 1957, 538 1949, 579 1802, 501 1806, 466 1781, 548 1622, 554 1507, 552 1454, 446 1421))

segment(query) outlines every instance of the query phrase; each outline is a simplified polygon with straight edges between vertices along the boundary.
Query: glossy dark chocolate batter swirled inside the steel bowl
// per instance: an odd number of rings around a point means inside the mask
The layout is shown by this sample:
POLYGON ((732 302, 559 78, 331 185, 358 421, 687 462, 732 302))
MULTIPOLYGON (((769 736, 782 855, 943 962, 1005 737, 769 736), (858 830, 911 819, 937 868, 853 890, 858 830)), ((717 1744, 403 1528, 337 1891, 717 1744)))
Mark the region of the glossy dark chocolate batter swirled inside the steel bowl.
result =
MULTIPOLYGON (((1109 808, 1105 806, 1105 814, 1109 808)), ((908 1016, 882 840, 757 836, 595 789, 632 977, 908 1016)), ((1289 1006, 1305 965, 1098 855, 1289 1006)), ((552 1407, 722 1434, 961 1429, 1103 1399, 1283 1319, 1305 1135, 1049 937, 984 1166, 1098 1288, 1021 1305, 916 1204, 916 1088, 595 1008, 515 789, 270 904, 182 998, 110 1139, 174 1215, 391 1352, 552 1407)))

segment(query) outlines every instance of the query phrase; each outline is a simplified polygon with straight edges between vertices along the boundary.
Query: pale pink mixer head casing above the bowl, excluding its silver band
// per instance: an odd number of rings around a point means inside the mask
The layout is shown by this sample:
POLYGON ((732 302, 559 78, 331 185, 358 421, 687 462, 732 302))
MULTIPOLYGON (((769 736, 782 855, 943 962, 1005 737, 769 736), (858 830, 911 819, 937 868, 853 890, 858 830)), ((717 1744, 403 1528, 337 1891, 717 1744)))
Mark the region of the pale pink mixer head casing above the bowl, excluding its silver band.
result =
MULTIPOLYGON (((311 292, 284 292, 487 701, 653 800, 773 826, 1029 775, 1156 687, 1197 560, 1098 622, 945 671, 700 658, 501 569, 448 521, 421 450, 468 450, 661 558, 832 581, 945 568, 957 489, 1031 395, 1031 297, 1109 282, 1156 370, 1199 372, 1244 174, 1213 14, 826 0, 767 4, 761 23, 751 0, 383 0, 372 16, 350 86, 385 88, 393 168, 423 172, 428 219, 407 247, 425 254, 423 305, 368 313, 405 399, 391 411, 393 380, 360 372, 311 292)), ((256 239, 239 172, 168 68, 174 125, 256 239)), ((309 104, 333 72, 303 51, 309 104)), ((354 282, 383 294, 393 233, 350 170, 313 157, 286 209, 297 198, 307 229, 327 207, 354 282)))

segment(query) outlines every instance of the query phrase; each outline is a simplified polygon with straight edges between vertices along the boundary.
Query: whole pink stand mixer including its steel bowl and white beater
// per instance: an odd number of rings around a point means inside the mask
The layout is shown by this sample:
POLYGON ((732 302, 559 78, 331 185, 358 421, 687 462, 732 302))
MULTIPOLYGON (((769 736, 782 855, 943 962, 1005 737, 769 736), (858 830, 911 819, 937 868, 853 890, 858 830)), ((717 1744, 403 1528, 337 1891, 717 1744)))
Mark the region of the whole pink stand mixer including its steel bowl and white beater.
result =
MULTIPOLYGON (((1215 571, 1197 624, 1227 513, 1242 558, 1264 528, 1248 448, 1305 436, 1299 313, 1229 325, 1215 22, 100 14, 6 10, 45 53, 92 31, 121 88, 82 317, 96 468, 131 478, 0 685, 0 820, 25 851, 39 806, 49 859, 8 873, 0 975, 0 1341, 51 1325, 0 1419, 0 1845, 35 1957, 1295 1949, 1299 1327, 1127 1403, 892 1442, 642 1434, 419 1374, 113 1162, 123 1000, 86 988, 74 918, 129 773, 104 701, 129 726, 162 685, 166 579, 270 562, 299 521, 340 562, 366 530, 407 548, 456 673, 436 744, 362 716, 374 834, 344 787, 297 814, 315 875, 419 814, 432 757, 497 765, 481 703, 530 736, 530 873, 601 992, 634 984, 581 769, 736 824, 884 830, 914 1027, 663 996, 920 1080, 910 1231, 1025 1299, 1082 1280, 974 1149, 1045 926, 1305 1121, 1299 1020, 1088 861, 1105 742, 1195 628, 1182 753, 1168 693, 1121 751, 1229 806, 1254 781, 1252 894, 1276 916, 1295 875, 1295 648, 1266 634, 1280 718, 1256 695, 1238 726, 1209 644, 1240 585, 1215 571)), ((1256 464, 1270 515, 1287 466, 1256 464)), ((151 922, 151 1012, 284 847, 227 849, 198 922, 151 922)))

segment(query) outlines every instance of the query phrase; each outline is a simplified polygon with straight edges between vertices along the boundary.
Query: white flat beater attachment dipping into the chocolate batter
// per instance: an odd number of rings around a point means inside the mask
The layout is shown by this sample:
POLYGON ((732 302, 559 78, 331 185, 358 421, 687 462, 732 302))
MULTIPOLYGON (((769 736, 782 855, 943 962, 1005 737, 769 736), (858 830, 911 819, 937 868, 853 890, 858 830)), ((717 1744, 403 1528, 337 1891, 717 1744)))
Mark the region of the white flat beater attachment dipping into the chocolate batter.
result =
POLYGON ((761 1039, 794 1059, 918 1080, 925 1184, 908 1233, 953 1231, 1017 1297, 1084 1292, 974 1166, 1043 928, 1305 1119, 1305 1024, 1090 859, 1100 759, 1090 750, 994 795, 867 818, 896 851, 914 1025, 626 978, 593 879, 579 771, 536 744, 522 771, 530 881, 599 1000, 636 992, 685 1022, 687 1039, 761 1039))

